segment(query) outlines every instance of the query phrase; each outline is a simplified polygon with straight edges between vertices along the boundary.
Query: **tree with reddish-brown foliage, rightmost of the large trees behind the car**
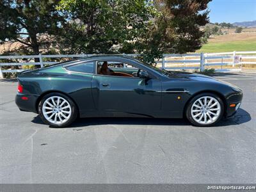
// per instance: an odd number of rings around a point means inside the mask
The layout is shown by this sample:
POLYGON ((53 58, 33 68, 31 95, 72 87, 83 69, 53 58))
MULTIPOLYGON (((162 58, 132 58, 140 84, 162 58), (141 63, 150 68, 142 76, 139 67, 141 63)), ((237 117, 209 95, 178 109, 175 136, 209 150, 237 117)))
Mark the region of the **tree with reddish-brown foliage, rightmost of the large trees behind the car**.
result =
POLYGON ((211 0, 156 0, 159 14, 146 38, 134 42, 146 61, 154 62, 163 53, 194 52, 202 46, 204 31, 200 26, 209 22, 207 5, 211 0))

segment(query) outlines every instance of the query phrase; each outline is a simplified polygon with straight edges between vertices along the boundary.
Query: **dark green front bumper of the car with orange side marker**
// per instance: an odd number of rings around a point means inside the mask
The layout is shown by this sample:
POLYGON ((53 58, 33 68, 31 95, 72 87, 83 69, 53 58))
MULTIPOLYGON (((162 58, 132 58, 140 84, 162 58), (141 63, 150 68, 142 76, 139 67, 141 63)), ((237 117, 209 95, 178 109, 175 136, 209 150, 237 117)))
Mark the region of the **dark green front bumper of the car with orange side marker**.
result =
POLYGON ((236 114, 237 110, 241 106, 243 99, 243 92, 237 92, 227 97, 227 111, 225 116, 228 118, 236 114), (234 104, 232 107, 230 105, 234 104))

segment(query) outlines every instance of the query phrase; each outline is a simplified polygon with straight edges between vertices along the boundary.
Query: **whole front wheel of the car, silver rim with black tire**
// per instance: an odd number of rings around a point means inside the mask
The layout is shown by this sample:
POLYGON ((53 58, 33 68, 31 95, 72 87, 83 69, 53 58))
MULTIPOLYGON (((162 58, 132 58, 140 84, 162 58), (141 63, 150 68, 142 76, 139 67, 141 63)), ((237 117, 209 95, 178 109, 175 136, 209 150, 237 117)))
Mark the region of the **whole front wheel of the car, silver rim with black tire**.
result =
POLYGON ((207 127, 221 120, 224 112, 223 101, 212 93, 202 93, 188 104, 186 116, 192 124, 207 127))

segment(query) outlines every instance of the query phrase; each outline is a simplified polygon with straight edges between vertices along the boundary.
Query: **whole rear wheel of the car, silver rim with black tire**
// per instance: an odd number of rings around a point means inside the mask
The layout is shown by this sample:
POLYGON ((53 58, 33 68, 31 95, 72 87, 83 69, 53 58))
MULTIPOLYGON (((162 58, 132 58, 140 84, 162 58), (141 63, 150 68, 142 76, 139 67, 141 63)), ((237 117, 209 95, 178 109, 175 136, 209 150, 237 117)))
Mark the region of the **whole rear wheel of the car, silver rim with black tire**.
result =
POLYGON ((39 103, 38 111, 43 122, 51 127, 66 127, 77 117, 76 105, 61 93, 45 95, 39 103))

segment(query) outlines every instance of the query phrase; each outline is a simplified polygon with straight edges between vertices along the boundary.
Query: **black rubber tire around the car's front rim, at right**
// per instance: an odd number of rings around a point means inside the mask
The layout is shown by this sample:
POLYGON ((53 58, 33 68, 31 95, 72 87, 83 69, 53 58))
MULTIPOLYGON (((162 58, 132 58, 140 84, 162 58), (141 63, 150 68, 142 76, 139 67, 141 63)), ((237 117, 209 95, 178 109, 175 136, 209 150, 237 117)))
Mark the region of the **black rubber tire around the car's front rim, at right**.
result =
POLYGON ((218 97, 218 95, 215 95, 213 93, 200 93, 199 95, 196 95, 195 97, 193 97, 193 99, 191 99, 188 103, 188 106, 186 108, 186 118, 188 118, 189 122, 191 122, 191 124, 196 125, 198 127, 211 127, 212 125, 218 123, 221 118, 223 117, 223 113, 224 113, 224 104, 223 104, 223 100, 220 99, 220 97, 218 97), (212 122, 211 124, 200 124, 198 122, 196 122, 196 120, 194 120, 194 118, 192 117, 191 114, 191 108, 194 104, 194 102, 196 100, 198 100, 200 97, 214 97, 214 99, 218 100, 218 102, 220 103, 220 115, 218 116, 218 118, 216 118, 216 120, 214 120, 214 122, 212 122))

